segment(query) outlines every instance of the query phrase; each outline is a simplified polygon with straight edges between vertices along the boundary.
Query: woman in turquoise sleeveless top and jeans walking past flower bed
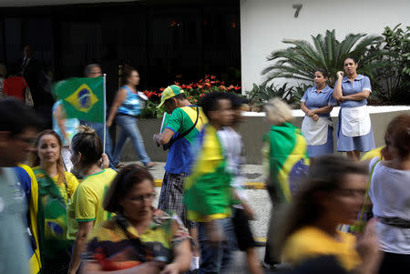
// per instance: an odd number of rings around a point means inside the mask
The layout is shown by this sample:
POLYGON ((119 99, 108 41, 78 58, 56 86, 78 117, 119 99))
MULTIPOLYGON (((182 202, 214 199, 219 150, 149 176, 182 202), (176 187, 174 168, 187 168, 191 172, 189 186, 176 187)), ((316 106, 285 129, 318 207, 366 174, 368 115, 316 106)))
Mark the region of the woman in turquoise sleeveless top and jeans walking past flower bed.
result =
POLYGON ((128 139, 131 138, 138 154, 139 160, 145 167, 153 167, 156 164, 151 162, 149 156, 144 147, 144 141, 137 127, 137 117, 141 113, 143 104, 140 101, 136 86, 139 84, 138 71, 130 66, 124 66, 123 79, 125 79, 125 85, 121 86, 114 99, 109 116, 107 119, 107 126, 111 127, 114 118, 116 124, 121 127, 121 135, 118 138, 116 147, 114 148, 114 159, 119 160, 122 149, 128 139))

